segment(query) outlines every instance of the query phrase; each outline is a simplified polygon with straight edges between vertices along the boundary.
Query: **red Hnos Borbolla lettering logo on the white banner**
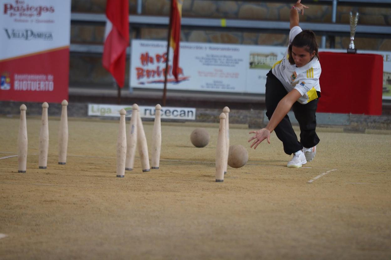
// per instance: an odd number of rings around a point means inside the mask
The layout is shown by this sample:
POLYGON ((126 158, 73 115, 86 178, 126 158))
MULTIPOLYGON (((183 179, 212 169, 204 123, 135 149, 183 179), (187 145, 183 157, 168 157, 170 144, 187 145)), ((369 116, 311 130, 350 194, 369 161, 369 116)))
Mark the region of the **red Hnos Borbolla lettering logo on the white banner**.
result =
MULTIPOLYGON (((166 73, 167 52, 157 53, 155 56, 150 56, 149 52, 140 55, 140 62, 142 67, 136 67, 136 77, 138 84, 161 84, 164 83, 164 76, 166 73), (145 80, 145 81, 141 81, 145 80)), ((178 68, 178 82, 173 78, 172 65, 169 65, 167 73, 167 82, 178 84, 182 81, 189 80, 190 76, 185 76, 183 68, 178 68)))

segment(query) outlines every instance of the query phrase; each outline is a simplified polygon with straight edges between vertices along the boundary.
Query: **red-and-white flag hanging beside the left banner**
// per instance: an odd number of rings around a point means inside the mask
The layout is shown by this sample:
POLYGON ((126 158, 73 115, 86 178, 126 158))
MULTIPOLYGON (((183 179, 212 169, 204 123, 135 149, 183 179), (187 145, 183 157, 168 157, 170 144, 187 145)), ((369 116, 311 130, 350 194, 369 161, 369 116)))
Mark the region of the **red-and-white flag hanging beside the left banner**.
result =
POLYGON ((102 65, 124 87, 126 47, 129 45, 129 2, 108 0, 106 4, 106 32, 102 65))

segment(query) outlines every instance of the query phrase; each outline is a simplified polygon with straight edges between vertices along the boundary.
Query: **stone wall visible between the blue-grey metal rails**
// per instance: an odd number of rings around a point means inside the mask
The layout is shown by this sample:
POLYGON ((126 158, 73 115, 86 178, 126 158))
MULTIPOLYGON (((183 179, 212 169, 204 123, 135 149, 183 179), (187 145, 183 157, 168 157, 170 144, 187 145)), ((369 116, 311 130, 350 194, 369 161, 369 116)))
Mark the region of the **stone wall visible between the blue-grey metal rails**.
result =
MULTIPOLYGON (((293 1, 294 2, 294 1, 293 1)), ((142 13, 146 15, 168 16, 170 0, 143 0, 142 13)), ((183 17, 227 18, 227 19, 253 19, 267 21, 289 21, 289 9, 292 4, 278 4, 246 1, 210 1, 210 0, 184 0, 183 17)), ((308 4, 310 9, 300 16, 300 21, 331 23, 332 7, 330 5, 308 4)), ((72 0, 72 12, 104 13, 106 0, 72 0)), ((349 12, 360 13, 359 24, 362 25, 391 25, 391 7, 350 7, 338 6, 337 23, 349 23, 349 12)), ((137 0, 129 0, 130 14, 137 12, 137 0)), ((311 29, 311 28, 308 28, 311 29)), ((132 29, 131 29, 132 30, 132 29)), ((72 25, 71 43, 102 44, 104 26, 72 25)), ((131 38, 136 32, 131 31, 131 38)), ((161 28, 142 28, 142 39, 166 40, 167 30, 161 28)), ((318 42, 321 37, 317 37, 318 42)), ((225 44, 255 44, 284 46, 288 35, 281 33, 245 32, 230 30, 182 30, 181 41, 213 42, 225 44)), ((348 48, 350 39, 335 37, 335 48, 348 48)), ((378 39, 373 37, 356 37, 356 48, 361 50, 391 51, 391 39, 378 39)), ((327 42, 326 48, 330 44, 327 42)), ((129 61, 127 62, 129 66, 129 61)), ((128 70, 127 70, 128 71, 128 70)), ((126 82, 129 82, 127 72, 126 82)), ((112 78, 102 69, 100 55, 71 55, 70 58, 70 85, 102 85, 112 84, 112 78), (92 57, 90 57, 92 56, 92 57)))

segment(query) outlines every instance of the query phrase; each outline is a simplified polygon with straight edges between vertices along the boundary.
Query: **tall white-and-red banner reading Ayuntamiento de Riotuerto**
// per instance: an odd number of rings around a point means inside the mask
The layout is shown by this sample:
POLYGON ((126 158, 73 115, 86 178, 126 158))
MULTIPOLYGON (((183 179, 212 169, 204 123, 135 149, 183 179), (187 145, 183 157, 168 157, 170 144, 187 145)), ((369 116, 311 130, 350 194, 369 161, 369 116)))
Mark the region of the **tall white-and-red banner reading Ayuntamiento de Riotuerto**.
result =
POLYGON ((0 100, 68 100, 71 1, 0 4, 0 100))

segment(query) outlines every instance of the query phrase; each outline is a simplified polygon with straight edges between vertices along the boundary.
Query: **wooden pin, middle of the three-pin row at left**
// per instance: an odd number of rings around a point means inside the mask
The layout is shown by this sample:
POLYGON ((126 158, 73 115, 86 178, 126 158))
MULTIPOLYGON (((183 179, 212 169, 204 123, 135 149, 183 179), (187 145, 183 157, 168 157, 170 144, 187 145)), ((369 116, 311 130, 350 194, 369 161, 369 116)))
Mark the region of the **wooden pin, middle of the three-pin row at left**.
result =
POLYGON ((49 125, 48 125, 48 107, 49 104, 42 104, 41 132, 39 134, 39 169, 46 169, 49 150, 49 125))

